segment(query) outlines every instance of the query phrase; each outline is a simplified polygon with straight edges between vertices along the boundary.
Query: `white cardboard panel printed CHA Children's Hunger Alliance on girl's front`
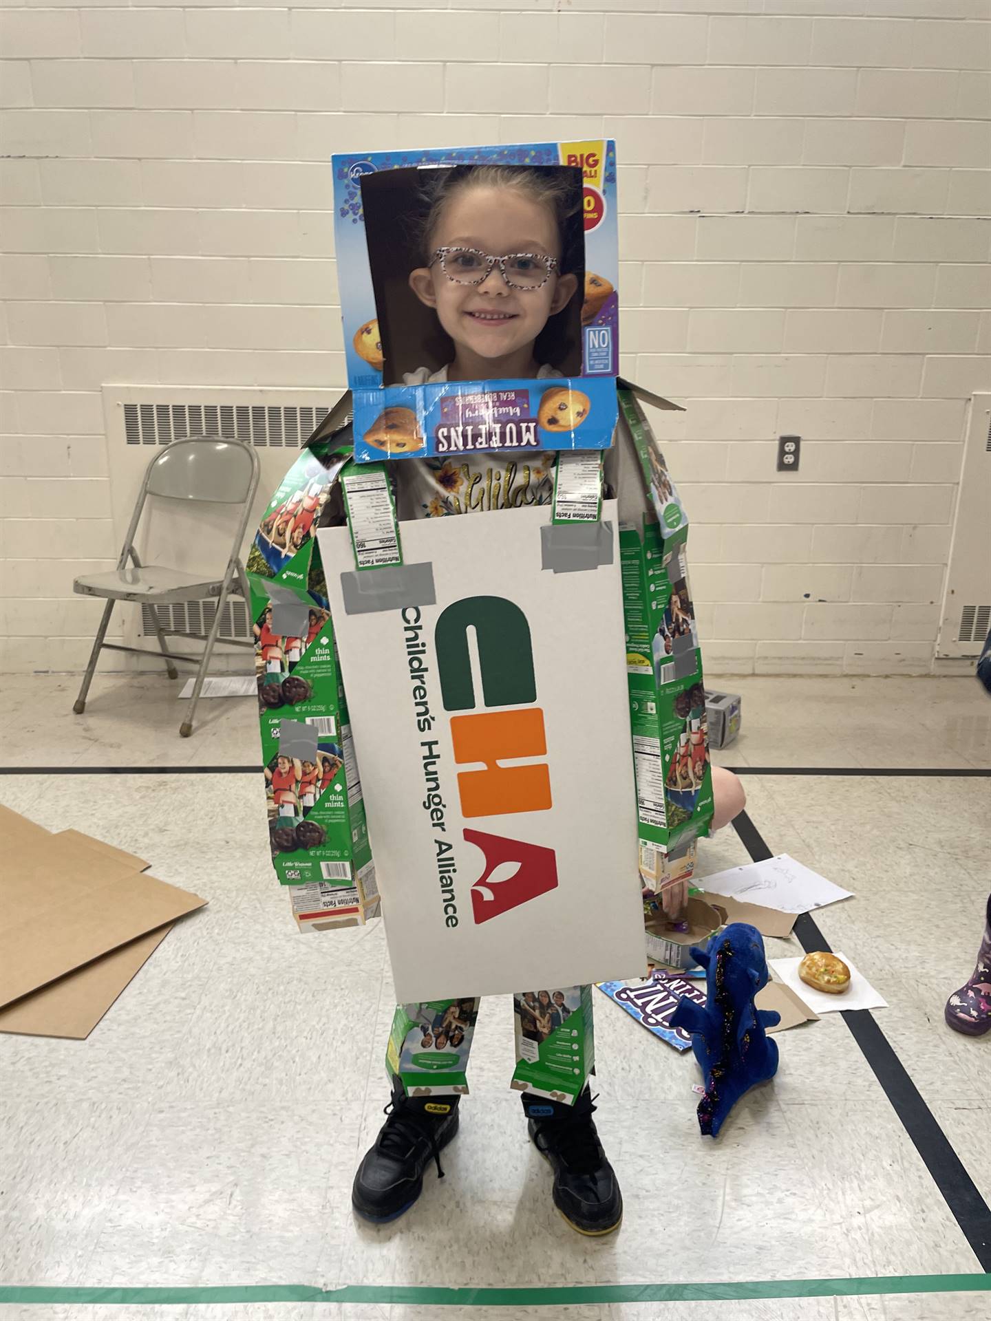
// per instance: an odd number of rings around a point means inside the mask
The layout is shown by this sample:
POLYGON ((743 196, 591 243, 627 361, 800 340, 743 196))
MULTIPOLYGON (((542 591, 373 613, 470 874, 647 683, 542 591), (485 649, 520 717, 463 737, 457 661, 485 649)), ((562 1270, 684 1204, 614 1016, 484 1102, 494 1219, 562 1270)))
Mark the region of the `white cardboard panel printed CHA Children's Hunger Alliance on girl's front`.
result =
MULTIPOLYGON (((350 534, 317 534, 403 1003, 645 964, 616 503, 597 568, 543 568, 550 520, 534 506, 403 522, 404 567, 429 567, 433 601, 350 614, 350 534), (503 783, 519 797, 497 798, 503 783)), ((362 592, 382 572, 357 575, 362 592)))

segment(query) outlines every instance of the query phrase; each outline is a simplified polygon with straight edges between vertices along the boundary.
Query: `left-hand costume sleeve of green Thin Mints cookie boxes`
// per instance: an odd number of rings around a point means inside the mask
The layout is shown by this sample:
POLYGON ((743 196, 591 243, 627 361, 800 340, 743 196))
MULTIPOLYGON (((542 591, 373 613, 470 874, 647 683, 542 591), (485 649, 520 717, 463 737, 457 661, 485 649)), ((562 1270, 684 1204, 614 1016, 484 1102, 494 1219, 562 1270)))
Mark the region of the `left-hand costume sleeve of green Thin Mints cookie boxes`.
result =
MULTIPOLYGON (((316 523, 350 456, 332 410, 268 502, 248 552, 272 865, 304 930, 378 913, 375 868, 316 523), (321 439, 321 435, 325 439, 321 439)), ((337 495, 340 501, 340 494, 337 495)))

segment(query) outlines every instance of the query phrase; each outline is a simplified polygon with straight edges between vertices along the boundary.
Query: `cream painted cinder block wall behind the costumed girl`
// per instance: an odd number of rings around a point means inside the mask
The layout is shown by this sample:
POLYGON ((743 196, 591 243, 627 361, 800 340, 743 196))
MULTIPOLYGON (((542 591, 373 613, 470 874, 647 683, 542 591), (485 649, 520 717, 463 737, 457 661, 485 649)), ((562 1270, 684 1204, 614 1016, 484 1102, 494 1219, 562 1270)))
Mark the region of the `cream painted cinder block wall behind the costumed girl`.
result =
POLYGON ((688 407, 661 431, 710 671, 929 671, 991 388, 990 18, 3 0, 4 667, 87 654, 71 580, 116 550, 104 382, 344 384, 332 151, 606 133, 624 370, 688 407))

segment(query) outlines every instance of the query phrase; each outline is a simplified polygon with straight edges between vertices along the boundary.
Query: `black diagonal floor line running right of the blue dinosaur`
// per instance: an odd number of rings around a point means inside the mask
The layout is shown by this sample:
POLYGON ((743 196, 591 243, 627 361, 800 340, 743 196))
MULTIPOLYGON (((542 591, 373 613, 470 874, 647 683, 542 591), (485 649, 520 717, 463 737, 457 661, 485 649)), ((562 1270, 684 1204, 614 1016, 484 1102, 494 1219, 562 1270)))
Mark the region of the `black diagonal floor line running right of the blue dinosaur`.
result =
MULTIPOLYGON (((745 811, 740 812, 733 827, 754 863, 773 856, 745 811)), ((806 954, 811 950, 830 948, 826 937, 809 913, 802 913, 797 918, 794 933, 806 954)), ((947 987, 947 993, 953 987, 947 987)), ((871 1011, 844 1009, 843 1021, 854 1034, 854 1040, 873 1070, 875 1078, 884 1089, 902 1128, 925 1161, 933 1182, 942 1193, 943 1201, 980 1262, 982 1271, 991 1272, 991 1209, 967 1173, 963 1161, 953 1149, 950 1139, 937 1123, 871 1011)), ((933 1030, 949 1032, 950 1029, 943 1028, 939 1022, 934 1025, 933 1030)), ((892 1196, 896 1193, 897 1190, 893 1190, 892 1196)))

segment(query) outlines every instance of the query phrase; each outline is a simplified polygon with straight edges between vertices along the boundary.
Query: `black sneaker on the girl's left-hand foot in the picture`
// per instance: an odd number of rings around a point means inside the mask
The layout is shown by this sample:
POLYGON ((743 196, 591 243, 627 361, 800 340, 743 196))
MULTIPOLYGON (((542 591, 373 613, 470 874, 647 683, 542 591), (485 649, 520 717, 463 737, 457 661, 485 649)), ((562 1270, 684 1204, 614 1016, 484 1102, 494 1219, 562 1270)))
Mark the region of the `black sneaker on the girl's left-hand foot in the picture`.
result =
POLYGON ((383 1223, 408 1211, 423 1192, 431 1160, 444 1177, 440 1153, 457 1133, 460 1096, 406 1096, 399 1085, 386 1106, 388 1119, 358 1166, 351 1206, 366 1221, 383 1223))

